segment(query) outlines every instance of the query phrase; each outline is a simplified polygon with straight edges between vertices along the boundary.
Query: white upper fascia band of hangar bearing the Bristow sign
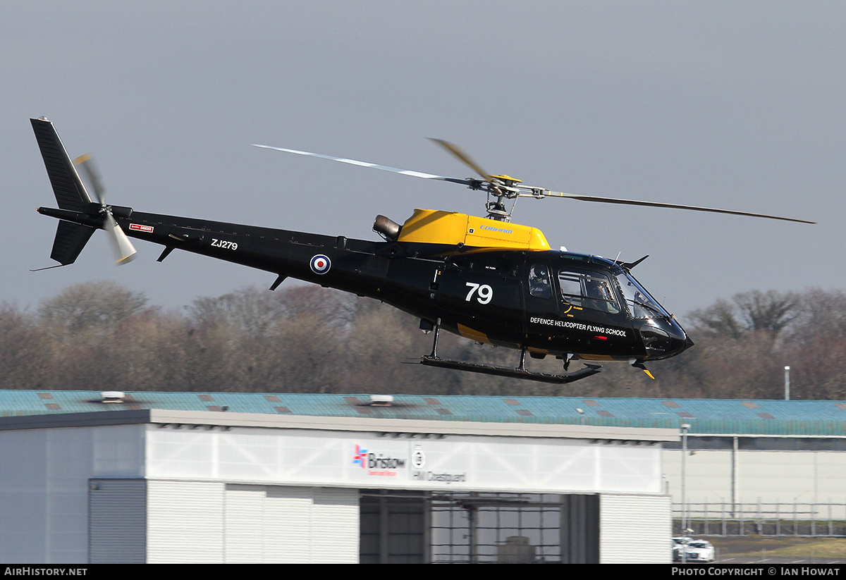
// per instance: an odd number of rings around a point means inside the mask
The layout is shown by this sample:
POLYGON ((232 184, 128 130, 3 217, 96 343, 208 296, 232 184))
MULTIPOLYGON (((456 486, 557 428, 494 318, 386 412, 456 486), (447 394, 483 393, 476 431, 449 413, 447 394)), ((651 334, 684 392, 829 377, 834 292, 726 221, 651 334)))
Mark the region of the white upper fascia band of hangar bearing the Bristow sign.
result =
POLYGON ((519 436, 395 435, 150 425, 146 475, 356 488, 662 492, 661 447, 657 445, 519 436))

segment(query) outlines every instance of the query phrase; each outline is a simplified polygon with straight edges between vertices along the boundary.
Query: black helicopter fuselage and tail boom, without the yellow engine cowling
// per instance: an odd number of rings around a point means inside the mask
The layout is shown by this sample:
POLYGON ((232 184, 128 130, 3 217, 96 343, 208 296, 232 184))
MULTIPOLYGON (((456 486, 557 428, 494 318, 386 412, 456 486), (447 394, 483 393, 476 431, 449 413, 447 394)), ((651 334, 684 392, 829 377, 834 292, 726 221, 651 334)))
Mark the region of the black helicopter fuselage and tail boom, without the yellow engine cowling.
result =
MULTIPOLYGON (((40 208, 100 227, 102 216, 40 208)), ((533 356, 644 361, 689 347, 684 331, 611 260, 554 250, 457 248, 371 242, 211 222, 113 206, 130 238, 376 298, 476 342, 533 356), (624 285, 633 288, 630 296, 624 285), (635 293, 639 293, 637 296, 635 293)))

